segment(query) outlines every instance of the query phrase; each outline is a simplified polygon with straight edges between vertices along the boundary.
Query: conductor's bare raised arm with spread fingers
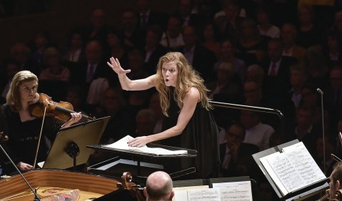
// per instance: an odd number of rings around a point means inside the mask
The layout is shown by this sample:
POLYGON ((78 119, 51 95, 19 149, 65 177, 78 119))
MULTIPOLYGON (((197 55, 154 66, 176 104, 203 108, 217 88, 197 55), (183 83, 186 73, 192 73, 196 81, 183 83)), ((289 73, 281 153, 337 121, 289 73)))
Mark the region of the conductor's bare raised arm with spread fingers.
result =
POLYGON ((149 76, 148 78, 139 79, 135 81, 131 81, 127 76, 126 73, 130 73, 131 70, 124 70, 121 67, 120 62, 117 58, 110 58, 111 63, 107 62, 108 66, 113 69, 114 72, 118 74, 119 81, 121 84, 121 88, 126 91, 140 91, 146 90, 156 86, 156 75, 149 76))

